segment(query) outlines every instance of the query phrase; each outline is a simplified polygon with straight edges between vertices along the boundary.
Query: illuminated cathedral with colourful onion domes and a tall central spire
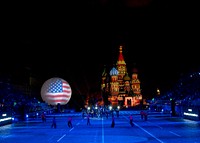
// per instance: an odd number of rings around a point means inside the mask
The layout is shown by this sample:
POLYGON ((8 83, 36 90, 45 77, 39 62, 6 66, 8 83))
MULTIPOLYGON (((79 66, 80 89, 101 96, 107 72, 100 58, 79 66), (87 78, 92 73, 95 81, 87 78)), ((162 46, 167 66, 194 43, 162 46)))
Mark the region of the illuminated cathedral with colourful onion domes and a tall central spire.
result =
POLYGON ((119 56, 116 66, 110 71, 106 67, 102 73, 101 91, 104 102, 107 105, 134 107, 141 103, 142 94, 138 71, 133 68, 131 77, 127 71, 126 62, 122 53, 122 46, 119 47, 119 56))

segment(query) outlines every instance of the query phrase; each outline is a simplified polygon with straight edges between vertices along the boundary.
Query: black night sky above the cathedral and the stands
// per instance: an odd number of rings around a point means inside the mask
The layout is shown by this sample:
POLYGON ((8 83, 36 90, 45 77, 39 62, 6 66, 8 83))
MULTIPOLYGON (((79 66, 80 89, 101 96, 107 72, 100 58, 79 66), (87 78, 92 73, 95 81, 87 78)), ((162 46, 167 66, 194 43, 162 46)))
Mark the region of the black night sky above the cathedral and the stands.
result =
POLYGON ((199 70, 199 15, 189 1, 140 2, 77 0, 13 13, 16 35, 3 42, 10 64, 2 58, 1 67, 17 73, 28 66, 44 80, 60 76, 74 90, 88 89, 100 82, 104 65, 116 63, 123 45, 129 72, 138 67, 143 94, 157 87, 162 93, 181 73, 199 70))

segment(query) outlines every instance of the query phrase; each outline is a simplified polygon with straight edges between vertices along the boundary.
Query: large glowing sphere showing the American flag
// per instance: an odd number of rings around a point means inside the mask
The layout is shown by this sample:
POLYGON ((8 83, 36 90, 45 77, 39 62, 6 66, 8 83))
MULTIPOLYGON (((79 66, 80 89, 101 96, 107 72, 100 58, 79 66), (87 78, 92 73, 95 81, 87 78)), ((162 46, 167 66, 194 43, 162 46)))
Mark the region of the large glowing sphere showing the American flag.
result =
POLYGON ((72 89, 69 83, 62 78, 50 78, 41 88, 43 101, 50 105, 65 105, 69 102, 71 95, 72 89))

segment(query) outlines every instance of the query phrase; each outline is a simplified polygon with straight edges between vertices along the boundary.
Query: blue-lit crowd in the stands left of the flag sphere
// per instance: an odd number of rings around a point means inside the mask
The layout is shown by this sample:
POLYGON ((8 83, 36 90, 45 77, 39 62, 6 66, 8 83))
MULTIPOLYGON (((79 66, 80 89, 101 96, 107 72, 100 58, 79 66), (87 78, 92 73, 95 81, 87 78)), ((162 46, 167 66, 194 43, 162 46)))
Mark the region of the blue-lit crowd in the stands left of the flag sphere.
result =
POLYGON ((23 94, 9 83, 0 82, 0 113, 11 113, 23 120, 26 114, 38 113, 40 116, 51 111, 52 107, 48 104, 23 94))

